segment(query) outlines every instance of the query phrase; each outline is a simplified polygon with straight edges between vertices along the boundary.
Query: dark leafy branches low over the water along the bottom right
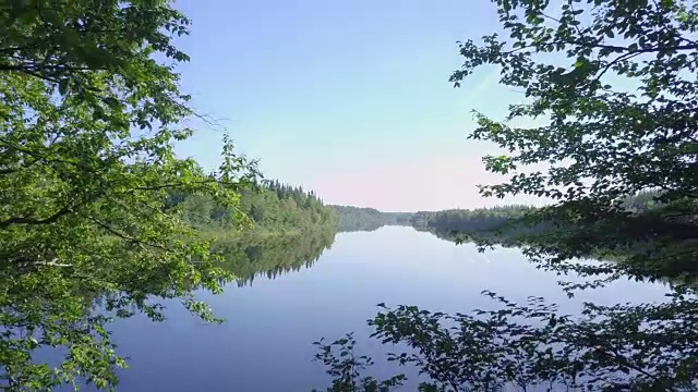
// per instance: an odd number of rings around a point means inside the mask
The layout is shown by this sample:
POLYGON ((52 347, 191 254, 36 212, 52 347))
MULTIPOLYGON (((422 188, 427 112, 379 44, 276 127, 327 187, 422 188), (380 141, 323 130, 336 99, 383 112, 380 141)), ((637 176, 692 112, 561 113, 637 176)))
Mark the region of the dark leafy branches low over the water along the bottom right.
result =
MULTIPOLYGON (((382 311, 369 321, 375 328, 372 336, 384 344, 409 347, 390 353, 388 360, 426 375, 429 381, 420 383, 420 391, 698 388, 694 376, 696 331, 684 328, 698 321, 691 302, 679 301, 683 306, 678 308, 666 304, 641 308, 587 304, 581 316, 573 317, 559 315, 556 306, 541 297, 519 305, 491 292, 484 294, 503 307, 446 315, 381 304, 382 311), (667 310, 675 317, 658 323, 667 310)), ((342 372, 347 365, 339 362, 346 357, 341 353, 352 347, 347 340, 321 346, 318 356, 334 370, 335 382, 347 384, 353 376, 342 372), (340 353, 339 359, 330 350, 340 353)), ((353 379, 359 377, 360 372, 353 379)))

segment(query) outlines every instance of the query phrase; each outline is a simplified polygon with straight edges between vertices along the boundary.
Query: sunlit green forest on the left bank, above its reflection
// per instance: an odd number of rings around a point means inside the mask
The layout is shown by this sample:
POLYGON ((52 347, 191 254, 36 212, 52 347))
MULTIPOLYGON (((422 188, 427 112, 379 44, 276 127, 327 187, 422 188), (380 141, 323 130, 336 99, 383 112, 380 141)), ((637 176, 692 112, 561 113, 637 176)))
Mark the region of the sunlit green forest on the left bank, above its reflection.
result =
POLYGON ((232 217, 245 213, 256 230, 305 231, 318 226, 336 226, 337 218, 332 208, 312 192, 300 186, 265 181, 255 188, 241 192, 237 210, 220 207, 209 195, 185 195, 172 192, 169 206, 181 208, 182 219, 197 229, 232 229, 232 217))

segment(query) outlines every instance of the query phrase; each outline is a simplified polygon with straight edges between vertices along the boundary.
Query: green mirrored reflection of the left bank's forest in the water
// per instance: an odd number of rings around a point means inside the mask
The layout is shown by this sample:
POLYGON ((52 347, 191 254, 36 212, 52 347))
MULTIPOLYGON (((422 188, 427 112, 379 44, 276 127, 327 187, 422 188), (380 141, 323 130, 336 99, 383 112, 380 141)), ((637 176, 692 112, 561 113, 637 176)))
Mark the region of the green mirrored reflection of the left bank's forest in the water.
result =
POLYGON ((275 279, 311 267, 334 241, 334 232, 310 232, 228 241, 216 244, 215 249, 225 258, 222 267, 237 277, 238 286, 244 286, 257 275, 275 279))

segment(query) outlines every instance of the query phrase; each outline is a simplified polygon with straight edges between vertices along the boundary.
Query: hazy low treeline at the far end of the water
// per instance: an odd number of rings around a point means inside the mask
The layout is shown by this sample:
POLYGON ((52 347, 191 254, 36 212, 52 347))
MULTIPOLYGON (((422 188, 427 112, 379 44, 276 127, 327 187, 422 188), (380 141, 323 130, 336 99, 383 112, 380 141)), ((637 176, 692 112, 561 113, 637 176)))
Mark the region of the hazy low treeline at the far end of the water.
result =
POLYGON ((410 225, 412 212, 381 212, 374 208, 329 206, 335 210, 339 231, 373 231, 384 225, 410 225))

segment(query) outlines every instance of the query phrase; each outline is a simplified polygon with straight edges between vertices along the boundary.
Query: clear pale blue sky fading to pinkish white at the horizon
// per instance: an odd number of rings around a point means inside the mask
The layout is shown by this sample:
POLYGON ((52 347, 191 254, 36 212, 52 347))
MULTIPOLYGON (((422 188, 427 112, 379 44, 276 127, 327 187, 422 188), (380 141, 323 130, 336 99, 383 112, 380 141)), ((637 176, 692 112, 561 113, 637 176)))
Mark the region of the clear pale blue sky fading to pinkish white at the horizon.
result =
POLYGON ((458 40, 500 30, 486 0, 179 1, 182 89, 219 126, 201 124, 178 154, 219 163, 221 128, 267 179, 327 204, 383 211, 476 208, 501 179, 467 139, 471 110, 502 119, 520 93, 483 69, 454 88, 458 40))

